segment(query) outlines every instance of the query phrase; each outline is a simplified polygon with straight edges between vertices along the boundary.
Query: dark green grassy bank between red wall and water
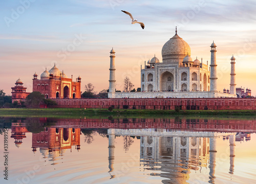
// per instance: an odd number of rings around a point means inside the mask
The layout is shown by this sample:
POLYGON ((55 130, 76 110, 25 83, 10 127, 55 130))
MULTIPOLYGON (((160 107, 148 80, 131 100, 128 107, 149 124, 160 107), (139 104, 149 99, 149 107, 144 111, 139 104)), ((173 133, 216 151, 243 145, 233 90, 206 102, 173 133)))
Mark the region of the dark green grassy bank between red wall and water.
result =
POLYGON ((183 116, 249 116, 256 117, 255 110, 138 110, 138 109, 81 109, 81 108, 47 108, 47 109, 0 109, 0 117, 49 117, 49 118, 104 118, 113 117, 169 117, 183 116))

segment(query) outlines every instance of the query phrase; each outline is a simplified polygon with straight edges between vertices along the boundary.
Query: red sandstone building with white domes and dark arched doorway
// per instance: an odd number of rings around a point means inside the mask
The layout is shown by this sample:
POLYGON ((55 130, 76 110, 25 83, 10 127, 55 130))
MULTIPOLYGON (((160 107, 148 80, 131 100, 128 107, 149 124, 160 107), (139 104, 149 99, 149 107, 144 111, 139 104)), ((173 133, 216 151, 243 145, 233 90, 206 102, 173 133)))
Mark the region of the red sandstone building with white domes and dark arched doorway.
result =
POLYGON ((49 99, 69 99, 80 98, 81 96, 81 78, 76 79, 76 82, 72 81, 72 78, 68 78, 63 71, 54 66, 48 72, 47 69, 37 78, 37 74, 34 74, 33 78, 33 91, 39 91, 45 95, 45 98, 49 99))

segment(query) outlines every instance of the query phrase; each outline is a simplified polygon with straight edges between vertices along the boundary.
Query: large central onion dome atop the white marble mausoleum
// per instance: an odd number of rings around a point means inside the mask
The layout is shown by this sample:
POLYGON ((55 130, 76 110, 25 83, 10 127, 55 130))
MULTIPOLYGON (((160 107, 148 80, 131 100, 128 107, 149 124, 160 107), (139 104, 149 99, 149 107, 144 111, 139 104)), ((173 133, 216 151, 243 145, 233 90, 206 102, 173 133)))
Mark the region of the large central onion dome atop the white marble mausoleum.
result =
POLYGON ((187 55, 191 55, 190 47, 177 33, 163 45, 163 62, 178 61, 178 58, 182 61, 187 55))

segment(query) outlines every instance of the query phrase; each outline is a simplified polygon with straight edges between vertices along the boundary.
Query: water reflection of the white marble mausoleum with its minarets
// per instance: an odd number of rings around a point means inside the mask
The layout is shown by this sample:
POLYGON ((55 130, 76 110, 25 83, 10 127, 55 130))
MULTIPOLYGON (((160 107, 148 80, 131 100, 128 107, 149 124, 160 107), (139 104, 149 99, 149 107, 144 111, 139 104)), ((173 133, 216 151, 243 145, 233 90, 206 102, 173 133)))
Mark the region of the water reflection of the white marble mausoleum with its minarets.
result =
MULTIPOLYGON (((115 135, 140 136, 143 171, 166 179, 162 183, 188 183, 191 170, 209 168, 209 183, 215 183, 217 137, 229 136, 230 168, 234 171, 236 133, 187 132, 165 129, 109 129, 109 172, 114 172, 115 135)), ((240 136, 239 133, 237 136, 240 136)))

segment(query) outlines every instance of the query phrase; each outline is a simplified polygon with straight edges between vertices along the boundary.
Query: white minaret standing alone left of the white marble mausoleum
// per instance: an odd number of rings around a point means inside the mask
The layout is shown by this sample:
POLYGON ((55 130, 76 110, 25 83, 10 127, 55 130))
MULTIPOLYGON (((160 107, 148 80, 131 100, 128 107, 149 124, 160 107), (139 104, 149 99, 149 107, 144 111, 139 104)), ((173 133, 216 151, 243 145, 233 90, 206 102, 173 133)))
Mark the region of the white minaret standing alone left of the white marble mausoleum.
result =
POLYGON ((115 75, 115 51, 112 48, 110 51, 110 89, 109 89, 109 98, 115 98, 115 93, 116 93, 116 75, 115 75))

